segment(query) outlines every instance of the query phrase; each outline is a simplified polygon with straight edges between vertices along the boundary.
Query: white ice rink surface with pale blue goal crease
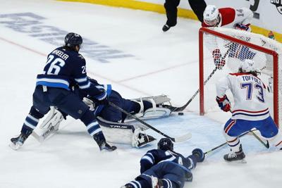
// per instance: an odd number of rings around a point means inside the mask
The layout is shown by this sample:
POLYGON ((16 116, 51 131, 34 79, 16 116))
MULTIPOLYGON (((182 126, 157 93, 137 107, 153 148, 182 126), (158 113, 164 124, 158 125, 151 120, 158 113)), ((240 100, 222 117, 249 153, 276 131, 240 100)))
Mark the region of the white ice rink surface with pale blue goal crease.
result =
MULTIPOLYGON (((67 32, 82 35, 80 53, 90 77, 112 84, 125 98, 168 94, 174 106, 185 104, 198 88, 200 23, 178 19, 177 27, 164 33, 165 15, 157 13, 49 0, 0 4, 0 187, 116 188, 133 180, 140 157, 157 142, 143 149, 116 144, 117 151, 100 152, 85 126, 72 118, 42 144, 30 137, 13 151, 9 139, 20 132, 30 110, 47 54, 63 44, 67 32)), ((184 115, 147 122, 171 137, 191 132, 192 139, 175 144, 186 156, 195 147, 208 151, 225 142, 221 125, 228 114, 200 117, 198 104, 196 97, 184 115)), ((282 152, 265 149, 250 135, 242 143, 246 164, 225 163, 228 148, 223 147, 197 165, 185 187, 281 187, 282 152)))

